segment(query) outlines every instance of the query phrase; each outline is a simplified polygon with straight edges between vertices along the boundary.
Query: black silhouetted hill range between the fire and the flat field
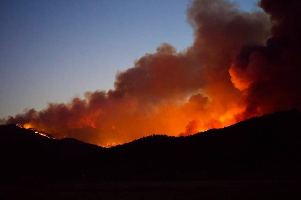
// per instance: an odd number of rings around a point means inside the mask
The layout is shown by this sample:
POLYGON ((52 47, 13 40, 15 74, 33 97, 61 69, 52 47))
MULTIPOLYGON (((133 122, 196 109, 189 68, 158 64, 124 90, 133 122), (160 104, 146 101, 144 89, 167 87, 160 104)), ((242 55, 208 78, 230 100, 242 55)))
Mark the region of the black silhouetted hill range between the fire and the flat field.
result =
POLYGON ((301 113, 284 111, 187 137, 153 135, 105 149, 0 126, 5 179, 299 179, 301 113))

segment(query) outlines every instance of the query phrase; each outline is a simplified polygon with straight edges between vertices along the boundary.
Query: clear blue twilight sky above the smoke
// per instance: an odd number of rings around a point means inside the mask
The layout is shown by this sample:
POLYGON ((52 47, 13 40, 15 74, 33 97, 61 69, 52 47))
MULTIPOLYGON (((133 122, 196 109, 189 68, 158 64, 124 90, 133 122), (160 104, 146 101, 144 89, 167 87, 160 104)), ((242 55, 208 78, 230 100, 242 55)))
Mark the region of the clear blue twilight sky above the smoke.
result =
MULTIPOLYGON (((0 119, 113 88, 125 70, 162 42, 193 42, 191 0, 1 0, 0 119)), ((242 9, 257 0, 238 0, 242 9)))

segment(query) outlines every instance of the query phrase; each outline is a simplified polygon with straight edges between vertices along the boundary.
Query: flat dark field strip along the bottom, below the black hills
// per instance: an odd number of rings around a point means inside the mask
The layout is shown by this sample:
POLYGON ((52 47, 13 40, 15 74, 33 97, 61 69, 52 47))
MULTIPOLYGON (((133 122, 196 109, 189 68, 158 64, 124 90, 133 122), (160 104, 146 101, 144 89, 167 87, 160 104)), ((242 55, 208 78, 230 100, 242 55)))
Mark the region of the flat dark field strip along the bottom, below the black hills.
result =
POLYGON ((1 199, 300 199, 297 181, 5 184, 1 199))

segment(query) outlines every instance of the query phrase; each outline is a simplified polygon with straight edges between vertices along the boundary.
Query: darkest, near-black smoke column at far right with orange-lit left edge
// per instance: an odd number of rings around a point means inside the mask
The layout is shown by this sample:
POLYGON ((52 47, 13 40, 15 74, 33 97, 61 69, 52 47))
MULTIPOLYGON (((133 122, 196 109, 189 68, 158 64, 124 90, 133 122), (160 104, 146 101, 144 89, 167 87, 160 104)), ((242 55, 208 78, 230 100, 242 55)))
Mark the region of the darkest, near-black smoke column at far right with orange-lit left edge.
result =
POLYGON ((262 0, 270 15, 272 37, 262 46, 246 45, 229 72, 245 91, 244 118, 283 109, 301 109, 301 2, 262 0))

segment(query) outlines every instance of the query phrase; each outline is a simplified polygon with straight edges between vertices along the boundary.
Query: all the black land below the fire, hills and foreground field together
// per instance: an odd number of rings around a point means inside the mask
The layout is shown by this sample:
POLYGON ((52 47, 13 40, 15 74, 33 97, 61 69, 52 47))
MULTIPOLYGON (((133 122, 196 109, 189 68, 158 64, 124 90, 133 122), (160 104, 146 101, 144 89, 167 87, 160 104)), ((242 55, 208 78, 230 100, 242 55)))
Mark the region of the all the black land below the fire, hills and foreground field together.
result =
POLYGON ((2 125, 0 197, 299 199, 300 124, 290 110, 109 149, 2 125))

